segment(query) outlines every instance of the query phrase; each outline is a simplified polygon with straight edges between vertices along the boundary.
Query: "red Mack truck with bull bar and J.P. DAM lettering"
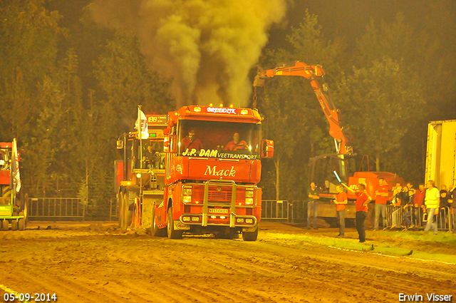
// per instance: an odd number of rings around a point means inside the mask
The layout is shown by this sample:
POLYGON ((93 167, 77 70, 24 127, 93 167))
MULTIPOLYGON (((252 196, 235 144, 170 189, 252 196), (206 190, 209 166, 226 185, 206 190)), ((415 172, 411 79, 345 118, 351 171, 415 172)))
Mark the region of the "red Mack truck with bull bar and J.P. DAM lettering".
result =
MULTIPOLYGON (((261 120, 250 108, 184 106, 168 113, 159 153, 162 183, 153 181, 150 187, 148 180, 160 180, 160 172, 150 175, 147 168, 132 166, 135 185, 124 180, 119 190, 126 201, 120 222, 170 238, 183 232, 222 237, 240 232, 246 241, 257 240, 261 158, 274 154, 274 142, 261 139, 261 120), (128 193, 132 185, 133 195, 128 193)), ((138 137, 130 140, 139 145, 138 137)))

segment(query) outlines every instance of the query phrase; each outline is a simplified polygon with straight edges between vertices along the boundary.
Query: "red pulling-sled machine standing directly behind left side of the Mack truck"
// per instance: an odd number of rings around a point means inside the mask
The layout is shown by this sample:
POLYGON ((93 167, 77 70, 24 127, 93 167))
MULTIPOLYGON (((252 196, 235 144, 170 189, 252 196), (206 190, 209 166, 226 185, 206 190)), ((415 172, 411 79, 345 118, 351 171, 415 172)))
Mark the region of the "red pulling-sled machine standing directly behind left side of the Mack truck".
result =
POLYGON ((165 153, 163 128, 166 115, 147 115, 147 138, 140 131, 123 134, 117 148, 123 149, 123 160, 115 161, 117 216, 119 226, 153 226, 154 205, 163 200, 165 153))

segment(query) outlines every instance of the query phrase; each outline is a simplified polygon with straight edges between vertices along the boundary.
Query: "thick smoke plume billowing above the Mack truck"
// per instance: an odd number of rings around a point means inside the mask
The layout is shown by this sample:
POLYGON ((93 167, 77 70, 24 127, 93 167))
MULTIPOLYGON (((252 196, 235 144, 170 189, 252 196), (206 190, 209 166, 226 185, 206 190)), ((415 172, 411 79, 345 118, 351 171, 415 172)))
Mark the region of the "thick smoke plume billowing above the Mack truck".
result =
POLYGON ((153 68, 173 76, 179 106, 245 106, 247 78, 287 0, 95 0, 95 21, 134 31, 153 68))

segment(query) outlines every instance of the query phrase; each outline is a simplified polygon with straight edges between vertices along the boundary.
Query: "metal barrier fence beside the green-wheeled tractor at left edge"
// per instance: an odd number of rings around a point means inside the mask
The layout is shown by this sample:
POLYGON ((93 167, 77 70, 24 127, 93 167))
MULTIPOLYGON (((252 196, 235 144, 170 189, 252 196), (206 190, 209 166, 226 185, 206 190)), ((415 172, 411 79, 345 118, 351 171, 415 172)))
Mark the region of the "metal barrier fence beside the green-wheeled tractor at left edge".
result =
POLYGON ((28 217, 81 218, 84 220, 85 205, 78 197, 31 197, 28 217))

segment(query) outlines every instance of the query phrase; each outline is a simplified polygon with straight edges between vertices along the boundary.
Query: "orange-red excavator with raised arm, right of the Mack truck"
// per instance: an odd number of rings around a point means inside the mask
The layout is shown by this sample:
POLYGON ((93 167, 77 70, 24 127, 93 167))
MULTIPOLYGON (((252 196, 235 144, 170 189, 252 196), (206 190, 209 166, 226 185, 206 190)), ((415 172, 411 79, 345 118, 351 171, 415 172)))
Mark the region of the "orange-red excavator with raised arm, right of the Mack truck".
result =
MULTIPOLYGON (((324 189, 320 194, 321 197, 332 198, 333 194, 337 193, 336 185, 339 183, 337 178, 340 178, 343 183, 348 183, 348 186, 353 190, 358 188, 359 183, 366 183, 366 190, 373 200, 375 200, 375 190, 379 186, 378 178, 384 178, 388 182, 390 191, 395 186, 395 183, 405 184, 403 178, 398 178, 393 173, 371 171, 367 156, 363 157, 363 160, 366 159, 367 162, 364 163, 367 165, 367 171, 361 171, 363 163, 356 171, 353 149, 347 145, 348 139, 343 134, 343 128, 338 118, 338 109, 334 106, 328 92, 328 86, 324 81, 325 72, 322 66, 296 61, 294 66, 281 66, 268 70, 259 68, 254 86, 263 86, 264 81, 261 81, 261 79, 274 76, 301 76, 308 79, 329 122, 329 134, 334 138, 336 153, 311 158, 309 163, 311 166, 311 180, 314 180, 318 187, 324 189)), ((356 196, 348 193, 348 198, 355 200, 356 196)), ((318 207, 318 215, 321 217, 335 217, 336 207, 333 207, 333 205, 331 207, 318 207)), ((346 217, 354 216, 355 212, 348 210, 346 217)))

